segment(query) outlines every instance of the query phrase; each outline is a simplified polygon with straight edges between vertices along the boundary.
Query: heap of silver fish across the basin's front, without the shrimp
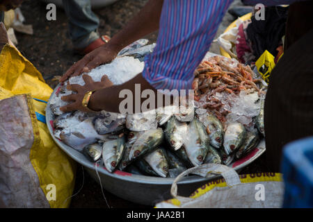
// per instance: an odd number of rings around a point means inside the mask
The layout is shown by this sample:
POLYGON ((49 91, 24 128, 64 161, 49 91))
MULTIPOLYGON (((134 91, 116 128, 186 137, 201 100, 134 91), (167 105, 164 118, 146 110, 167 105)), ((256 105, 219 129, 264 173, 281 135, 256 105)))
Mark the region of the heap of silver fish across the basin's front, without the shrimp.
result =
MULTIPOLYGON (((224 131, 222 123, 209 112, 196 114, 190 122, 179 121, 174 113, 155 114, 154 119, 147 119, 151 113, 128 118, 121 115, 113 121, 110 117, 104 111, 99 115, 65 113, 54 119, 54 135, 90 161, 101 159, 110 172, 118 169, 161 177, 176 177, 204 163, 230 164, 255 148, 261 137, 259 130, 249 132, 238 122, 224 131), (73 119, 76 126, 64 128, 73 119), (157 125, 141 124, 152 120, 157 125)), ((262 127, 262 117, 258 119, 262 127)))

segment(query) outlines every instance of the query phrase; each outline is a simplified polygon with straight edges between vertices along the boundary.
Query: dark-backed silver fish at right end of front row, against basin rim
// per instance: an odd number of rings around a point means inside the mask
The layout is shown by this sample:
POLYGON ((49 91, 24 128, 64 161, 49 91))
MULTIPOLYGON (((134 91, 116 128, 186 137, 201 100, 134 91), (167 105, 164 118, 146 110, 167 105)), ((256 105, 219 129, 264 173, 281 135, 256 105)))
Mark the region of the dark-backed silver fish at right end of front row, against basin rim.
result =
POLYGON ((240 146, 238 151, 236 151, 236 158, 240 159, 243 155, 249 153, 252 148, 255 148, 259 143, 259 133, 257 129, 247 132, 246 139, 243 141, 243 144, 240 146))

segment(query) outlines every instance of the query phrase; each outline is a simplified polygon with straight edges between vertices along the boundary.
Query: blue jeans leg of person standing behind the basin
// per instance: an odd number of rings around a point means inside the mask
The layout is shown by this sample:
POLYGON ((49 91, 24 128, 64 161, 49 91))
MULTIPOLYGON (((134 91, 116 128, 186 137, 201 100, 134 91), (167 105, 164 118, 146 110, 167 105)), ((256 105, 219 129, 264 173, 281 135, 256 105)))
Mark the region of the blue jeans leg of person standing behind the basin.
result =
POLYGON ((90 0, 63 0, 63 6, 75 49, 83 49, 99 38, 99 19, 91 10, 90 0))

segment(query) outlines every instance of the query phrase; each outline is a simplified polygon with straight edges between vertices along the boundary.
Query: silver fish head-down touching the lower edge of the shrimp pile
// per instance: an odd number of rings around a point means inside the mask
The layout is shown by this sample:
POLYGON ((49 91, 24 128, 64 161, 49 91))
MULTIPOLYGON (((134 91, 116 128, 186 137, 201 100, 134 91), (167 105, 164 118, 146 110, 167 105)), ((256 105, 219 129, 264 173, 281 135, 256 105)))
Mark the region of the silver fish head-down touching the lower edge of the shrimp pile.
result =
POLYGON ((214 117, 213 114, 206 112, 199 117, 199 120, 204 124, 206 127, 207 133, 210 137, 210 144, 215 148, 220 148, 223 144, 223 125, 220 121, 214 117))

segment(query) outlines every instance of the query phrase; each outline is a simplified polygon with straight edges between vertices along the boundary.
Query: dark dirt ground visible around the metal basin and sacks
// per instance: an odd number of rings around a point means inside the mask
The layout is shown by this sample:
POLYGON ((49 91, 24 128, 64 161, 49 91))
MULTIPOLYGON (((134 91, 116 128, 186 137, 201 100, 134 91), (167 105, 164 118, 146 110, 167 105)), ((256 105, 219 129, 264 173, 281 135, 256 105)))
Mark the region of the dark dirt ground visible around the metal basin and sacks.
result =
MULTIPOLYGON (((99 33, 113 36, 131 17, 145 5, 147 0, 121 0, 111 6, 94 10, 100 19, 99 33)), ((232 6, 240 5, 239 0, 234 1, 232 6)), ((72 43, 67 34, 67 17, 61 8, 57 9, 56 21, 49 22, 46 19, 46 3, 39 0, 24 1, 21 10, 26 18, 25 24, 33 25, 33 35, 16 33, 19 44, 17 48, 30 60, 33 65, 42 73, 47 83, 56 87, 58 82, 53 80, 54 76, 61 76, 77 60, 81 58, 72 53, 72 43)), ((232 7, 231 6, 231 7, 232 7)), ((234 17, 227 13, 220 24, 217 35, 234 21, 234 17)), ((147 36, 149 40, 155 42, 157 33, 147 36)), ((216 44, 212 44, 210 51, 219 53, 216 44)), ((264 155, 241 171, 241 173, 264 172, 264 155)), ((102 191, 88 173, 82 170, 77 164, 77 179, 70 207, 107 207, 102 196, 102 191), (79 192, 78 192, 79 191, 79 192), (76 194, 78 192, 78 194, 76 194)), ((147 207, 131 203, 122 198, 110 194, 104 190, 104 195, 110 207, 147 207)))

